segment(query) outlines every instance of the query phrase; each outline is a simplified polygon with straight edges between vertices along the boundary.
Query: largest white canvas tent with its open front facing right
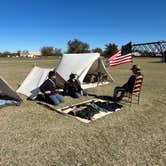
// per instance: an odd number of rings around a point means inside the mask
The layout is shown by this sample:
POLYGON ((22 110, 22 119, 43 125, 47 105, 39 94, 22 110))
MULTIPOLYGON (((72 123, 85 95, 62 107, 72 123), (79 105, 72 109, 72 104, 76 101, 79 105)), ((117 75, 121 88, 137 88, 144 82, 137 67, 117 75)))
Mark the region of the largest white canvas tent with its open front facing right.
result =
POLYGON ((78 79, 83 85, 84 78, 87 74, 101 72, 107 75, 107 81, 112 82, 113 78, 107 72, 99 53, 81 53, 81 54, 64 54, 58 67, 57 85, 63 87, 65 81, 69 79, 71 73, 77 74, 78 79))

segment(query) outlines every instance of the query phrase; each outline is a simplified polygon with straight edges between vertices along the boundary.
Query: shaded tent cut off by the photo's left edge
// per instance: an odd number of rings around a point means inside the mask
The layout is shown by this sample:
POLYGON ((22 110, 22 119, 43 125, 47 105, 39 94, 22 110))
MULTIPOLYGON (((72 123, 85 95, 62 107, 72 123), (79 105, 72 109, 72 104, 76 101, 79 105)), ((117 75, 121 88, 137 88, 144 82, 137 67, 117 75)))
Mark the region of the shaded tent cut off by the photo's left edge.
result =
POLYGON ((12 87, 0 76, 0 94, 10 99, 21 101, 18 94, 12 89, 12 87))

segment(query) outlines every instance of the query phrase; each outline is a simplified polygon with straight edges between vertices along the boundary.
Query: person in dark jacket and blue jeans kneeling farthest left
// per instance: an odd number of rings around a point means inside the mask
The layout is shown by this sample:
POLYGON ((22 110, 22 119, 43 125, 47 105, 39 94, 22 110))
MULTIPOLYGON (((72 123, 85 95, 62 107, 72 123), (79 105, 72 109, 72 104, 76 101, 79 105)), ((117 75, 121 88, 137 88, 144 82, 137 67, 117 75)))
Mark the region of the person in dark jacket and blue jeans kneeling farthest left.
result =
POLYGON ((62 95, 56 92, 56 73, 50 71, 48 79, 39 87, 41 92, 44 93, 45 97, 54 105, 58 105, 64 102, 62 95))

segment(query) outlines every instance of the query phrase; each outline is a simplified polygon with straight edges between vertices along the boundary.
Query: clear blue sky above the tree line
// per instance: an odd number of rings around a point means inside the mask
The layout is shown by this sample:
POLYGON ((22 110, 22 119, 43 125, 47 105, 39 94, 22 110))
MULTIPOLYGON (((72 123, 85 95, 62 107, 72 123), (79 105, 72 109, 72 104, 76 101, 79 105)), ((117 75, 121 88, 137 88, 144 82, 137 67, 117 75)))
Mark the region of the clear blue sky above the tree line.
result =
POLYGON ((166 40, 166 0, 0 0, 0 52, 69 40, 90 48, 166 40))

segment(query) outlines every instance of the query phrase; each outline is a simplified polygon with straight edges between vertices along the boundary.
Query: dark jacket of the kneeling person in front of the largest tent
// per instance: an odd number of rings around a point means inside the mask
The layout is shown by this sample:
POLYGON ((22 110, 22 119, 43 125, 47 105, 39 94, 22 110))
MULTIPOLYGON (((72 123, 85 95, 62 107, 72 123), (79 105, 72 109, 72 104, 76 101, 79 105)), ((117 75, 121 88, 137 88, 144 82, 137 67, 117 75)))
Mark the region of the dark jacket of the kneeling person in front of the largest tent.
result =
POLYGON ((68 95, 73 95, 75 92, 81 92, 82 88, 78 80, 69 79, 64 85, 64 91, 68 95))

